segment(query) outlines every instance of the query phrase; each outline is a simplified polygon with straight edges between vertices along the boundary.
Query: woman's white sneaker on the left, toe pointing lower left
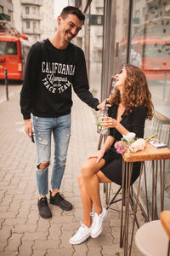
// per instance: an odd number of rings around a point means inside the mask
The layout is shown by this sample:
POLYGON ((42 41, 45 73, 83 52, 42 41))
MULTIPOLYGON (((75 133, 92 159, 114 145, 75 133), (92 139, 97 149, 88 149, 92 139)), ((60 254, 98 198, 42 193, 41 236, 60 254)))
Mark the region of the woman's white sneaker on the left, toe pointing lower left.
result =
POLYGON ((77 230, 77 233, 71 237, 69 240, 71 244, 80 244, 83 241, 86 241, 91 234, 92 226, 87 227, 85 224, 81 224, 80 228, 77 230))

